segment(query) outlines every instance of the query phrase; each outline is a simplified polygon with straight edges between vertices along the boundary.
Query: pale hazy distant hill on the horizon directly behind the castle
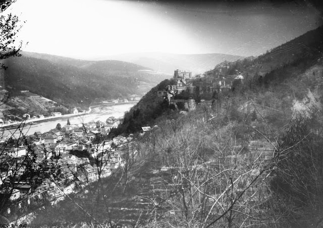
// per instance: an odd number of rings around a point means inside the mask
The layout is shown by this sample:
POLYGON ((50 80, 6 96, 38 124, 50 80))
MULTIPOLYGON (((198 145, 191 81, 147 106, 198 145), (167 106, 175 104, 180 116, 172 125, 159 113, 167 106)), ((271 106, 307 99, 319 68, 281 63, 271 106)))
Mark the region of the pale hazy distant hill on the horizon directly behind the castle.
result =
POLYGON ((171 53, 130 53, 109 56, 109 58, 147 66, 155 71, 169 74, 173 74, 174 69, 187 69, 191 70, 193 74, 199 74, 213 69, 214 66, 225 60, 232 62, 238 59, 243 59, 244 57, 218 53, 197 55, 179 55, 171 53))

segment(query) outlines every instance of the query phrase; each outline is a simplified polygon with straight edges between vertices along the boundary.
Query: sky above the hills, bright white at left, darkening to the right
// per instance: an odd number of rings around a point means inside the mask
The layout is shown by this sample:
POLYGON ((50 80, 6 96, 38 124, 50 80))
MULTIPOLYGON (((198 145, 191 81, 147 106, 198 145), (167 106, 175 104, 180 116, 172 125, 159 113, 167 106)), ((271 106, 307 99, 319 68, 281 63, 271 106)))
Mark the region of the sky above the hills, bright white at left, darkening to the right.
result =
MULTIPOLYGON (((246 1, 247 2, 247 1, 246 1)), ((305 2, 194 4, 17 0, 24 51, 79 59, 121 53, 259 55, 319 26, 305 2)))

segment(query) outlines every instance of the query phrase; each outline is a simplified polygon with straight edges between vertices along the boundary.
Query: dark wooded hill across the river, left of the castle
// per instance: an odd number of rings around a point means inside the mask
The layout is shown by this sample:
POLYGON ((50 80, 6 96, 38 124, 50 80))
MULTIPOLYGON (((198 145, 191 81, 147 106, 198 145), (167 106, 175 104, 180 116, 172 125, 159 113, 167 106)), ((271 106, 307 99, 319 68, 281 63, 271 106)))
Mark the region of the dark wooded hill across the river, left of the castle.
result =
MULTIPOLYGON (((45 54, 22 53, 6 61, 5 83, 14 95, 30 90, 58 103, 86 107, 95 98, 114 99, 138 94, 140 81, 158 77, 138 70, 149 68, 121 61, 83 61, 45 54), (34 58, 34 57, 37 58, 34 58)), ((7 88, 8 89, 8 88, 7 88)))

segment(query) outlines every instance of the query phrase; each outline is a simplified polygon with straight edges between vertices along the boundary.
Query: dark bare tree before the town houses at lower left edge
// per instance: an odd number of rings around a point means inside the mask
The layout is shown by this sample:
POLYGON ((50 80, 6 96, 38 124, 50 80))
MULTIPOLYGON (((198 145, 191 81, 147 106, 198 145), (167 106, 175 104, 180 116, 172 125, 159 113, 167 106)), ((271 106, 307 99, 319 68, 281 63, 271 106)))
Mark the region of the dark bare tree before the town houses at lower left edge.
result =
POLYGON ((14 219, 29 213, 26 208, 30 206, 25 204, 30 204, 31 201, 33 206, 37 204, 37 200, 31 200, 33 190, 44 178, 50 176, 50 173, 45 173, 41 164, 36 162, 37 155, 28 137, 22 133, 26 127, 22 122, 8 138, 5 138, 4 134, 1 135, 3 143, 0 144, 0 215, 3 223, 13 222, 14 219), (26 187, 26 190, 23 190, 23 187, 26 187), (22 204, 25 206, 22 207, 22 204))

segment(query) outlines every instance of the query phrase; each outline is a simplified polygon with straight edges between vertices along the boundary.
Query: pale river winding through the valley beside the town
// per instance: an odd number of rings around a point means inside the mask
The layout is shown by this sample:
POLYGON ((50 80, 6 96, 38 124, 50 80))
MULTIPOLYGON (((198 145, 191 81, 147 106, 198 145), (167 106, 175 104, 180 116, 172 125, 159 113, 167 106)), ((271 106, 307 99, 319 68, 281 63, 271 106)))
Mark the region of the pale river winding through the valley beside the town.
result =
MULTIPOLYGON (((92 108, 89 114, 69 117, 69 120, 71 124, 79 125, 82 125, 82 123, 88 123, 90 121, 96 122, 98 120, 105 122, 105 120, 110 116, 122 118, 125 112, 129 111, 134 105, 135 103, 96 107, 92 108)), ((67 119, 67 117, 62 116, 62 118, 60 119, 48 120, 46 122, 36 122, 32 125, 28 124, 24 126, 24 128, 22 129, 22 133, 24 135, 31 135, 35 133, 35 131, 40 131, 41 133, 44 133, 56 128, 56 125, 58 123, 60 123, 62 127, 65 126, 67 124, 67 119)), ((3 139, 8 138, 12 134, 14 134, 17 137, 20 135, 20 131, 17 129, 5 129, 3 139)))

